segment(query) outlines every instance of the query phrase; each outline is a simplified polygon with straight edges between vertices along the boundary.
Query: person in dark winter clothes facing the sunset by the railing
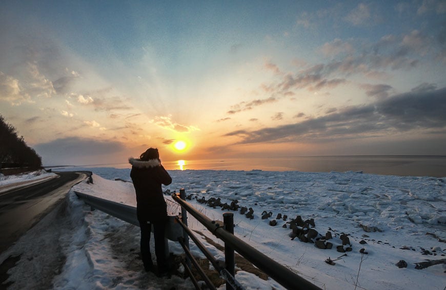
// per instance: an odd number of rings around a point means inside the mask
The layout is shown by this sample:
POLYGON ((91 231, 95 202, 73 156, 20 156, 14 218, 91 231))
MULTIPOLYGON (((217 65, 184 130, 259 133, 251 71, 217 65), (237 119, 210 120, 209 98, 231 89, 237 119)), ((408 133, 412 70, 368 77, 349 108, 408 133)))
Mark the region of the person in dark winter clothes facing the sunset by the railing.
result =
POLYGON ((156 273, 150 253, 150 232, 153 225, 155 256, 158 276, 168 275, 164 233, 167 222, 167 205, 161 184, 169 185, 172 177, 161 165, 158 149, 149 148, 139 159, 129 158, 130 177, 136 193, 136 214, 141 229, 140 250, 144 269, 156 273))

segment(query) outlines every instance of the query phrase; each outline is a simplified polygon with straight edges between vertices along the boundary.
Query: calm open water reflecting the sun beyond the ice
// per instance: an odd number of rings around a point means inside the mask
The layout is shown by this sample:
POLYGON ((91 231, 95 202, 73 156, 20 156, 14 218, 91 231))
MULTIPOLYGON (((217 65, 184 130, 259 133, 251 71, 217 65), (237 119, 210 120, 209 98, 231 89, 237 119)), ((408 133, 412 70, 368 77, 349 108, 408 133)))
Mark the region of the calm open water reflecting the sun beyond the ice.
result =
MULTIPOLYGON (((237 158, 163 161, 167 170, 263 170, 302 172, 363 172, 398 176, 446 177, 446 156, 361 155, 237 158)), ((130 168, 128 163, 83 165, 82 167, 130 168)))

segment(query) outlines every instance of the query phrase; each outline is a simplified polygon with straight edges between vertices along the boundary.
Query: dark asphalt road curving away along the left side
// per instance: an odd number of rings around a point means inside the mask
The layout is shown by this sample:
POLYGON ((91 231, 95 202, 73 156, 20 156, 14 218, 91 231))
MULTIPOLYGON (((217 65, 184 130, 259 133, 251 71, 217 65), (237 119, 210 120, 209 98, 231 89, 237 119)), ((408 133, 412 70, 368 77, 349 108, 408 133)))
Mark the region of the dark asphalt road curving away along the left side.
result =
POLYGON ((0 253, 61 202, 84 173, 55 172, 58 178, 0 195, 0 253))

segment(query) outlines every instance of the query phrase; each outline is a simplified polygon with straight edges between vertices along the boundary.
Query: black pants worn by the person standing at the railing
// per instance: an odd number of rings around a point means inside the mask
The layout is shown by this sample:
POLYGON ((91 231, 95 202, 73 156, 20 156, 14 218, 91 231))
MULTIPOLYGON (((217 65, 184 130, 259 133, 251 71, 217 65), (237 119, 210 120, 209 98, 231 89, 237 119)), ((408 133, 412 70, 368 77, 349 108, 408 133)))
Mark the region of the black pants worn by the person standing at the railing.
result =
MULTIPOLYGON (((141 229, 141 256, 145 269, 150 269, 153 265, 152 255, 150 254, 150 232, 151 224, 149 221, 139 220, 139 227, 141 229)), ((168 270, 166 260, 166 247, 164 241, 164 232, 166 229, 165 222, 153 223, 153 236, 155 238, 155 255, 156 263, 158 264, 158 272, 163 273, 168 270)))

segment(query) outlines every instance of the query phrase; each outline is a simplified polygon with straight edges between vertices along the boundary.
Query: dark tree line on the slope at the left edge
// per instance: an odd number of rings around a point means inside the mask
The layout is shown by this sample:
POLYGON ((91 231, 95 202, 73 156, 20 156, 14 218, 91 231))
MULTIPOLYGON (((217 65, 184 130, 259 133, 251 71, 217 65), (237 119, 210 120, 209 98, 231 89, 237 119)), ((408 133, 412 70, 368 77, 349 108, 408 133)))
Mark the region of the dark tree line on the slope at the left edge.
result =
POLYGON ((26 145, 23 136, 18 137, 14 126, 0 115, 0 168, 42 167, 42 158, 26 145))

